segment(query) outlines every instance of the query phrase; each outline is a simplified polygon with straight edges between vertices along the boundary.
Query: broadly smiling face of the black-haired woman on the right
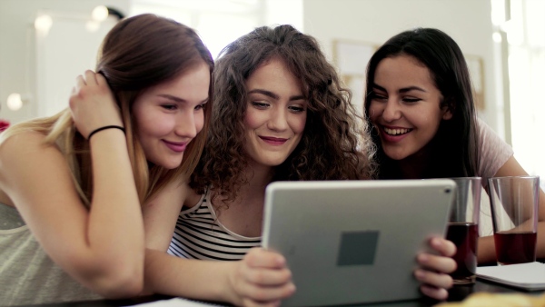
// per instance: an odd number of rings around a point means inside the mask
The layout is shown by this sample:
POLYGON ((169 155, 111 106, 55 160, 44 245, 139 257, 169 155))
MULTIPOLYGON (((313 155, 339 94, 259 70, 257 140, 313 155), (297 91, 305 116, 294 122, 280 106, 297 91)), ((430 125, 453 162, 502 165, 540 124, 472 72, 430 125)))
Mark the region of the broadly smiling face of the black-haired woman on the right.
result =
POLYGON ((420 153, 452 114, 441 109, 443 97, 430 70, 410 55, 381 60, 374 74, 369 117, 382 149, 394 160, 420 153))

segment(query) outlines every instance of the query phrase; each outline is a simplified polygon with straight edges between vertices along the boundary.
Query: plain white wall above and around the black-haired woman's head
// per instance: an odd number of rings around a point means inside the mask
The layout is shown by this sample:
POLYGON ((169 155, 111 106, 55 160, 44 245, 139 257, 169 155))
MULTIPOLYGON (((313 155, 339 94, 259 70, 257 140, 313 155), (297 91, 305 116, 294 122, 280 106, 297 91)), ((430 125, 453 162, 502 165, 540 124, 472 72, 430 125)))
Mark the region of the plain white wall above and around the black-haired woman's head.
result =
POLYGON ((333 60, 333 41, 351 40, 381 45, 411 28, 435 27, 460 45, 464 54, 484 60, 485 110, 480 112, 498 129, 501 106, 494 77, 489 0, 304 0, 304 32, 316 37, 333 60))

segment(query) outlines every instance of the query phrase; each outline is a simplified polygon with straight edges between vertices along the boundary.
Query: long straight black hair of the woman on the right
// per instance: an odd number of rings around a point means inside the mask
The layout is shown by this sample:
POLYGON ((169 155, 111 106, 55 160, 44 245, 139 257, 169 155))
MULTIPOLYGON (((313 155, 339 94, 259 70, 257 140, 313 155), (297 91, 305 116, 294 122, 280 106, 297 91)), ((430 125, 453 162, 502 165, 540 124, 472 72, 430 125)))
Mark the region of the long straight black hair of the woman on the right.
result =
MULTIPOLYGON (((479 167, 479 134, 471 78, 460 47, 438 29, 417 28, 391 37, 372 55, 367 67, 365 114, 372 126, 369 107, 377 66, 388 57, 410 55, 424 64, 431 78, 441 91, 440 107, 447 107, 450 120, 441 121, 437 134, 427 147, 431 150, 426 161, 423 178, 474 176, 479 167)), ((372 127, 372 141, 378 147, 379 177, 401 178, 397 163, 381 149, 381 138, 372 127)))

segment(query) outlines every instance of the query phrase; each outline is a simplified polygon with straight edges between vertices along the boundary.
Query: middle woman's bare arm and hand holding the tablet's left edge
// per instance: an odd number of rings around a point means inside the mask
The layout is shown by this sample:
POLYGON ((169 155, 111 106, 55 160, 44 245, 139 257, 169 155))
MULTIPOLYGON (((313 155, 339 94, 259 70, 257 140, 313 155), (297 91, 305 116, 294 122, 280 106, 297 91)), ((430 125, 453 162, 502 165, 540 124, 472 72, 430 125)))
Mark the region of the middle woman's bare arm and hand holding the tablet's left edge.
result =
POLYGON ((291 272, 277 253, 253 249, 239 262, 187 260, 166 253, 186 195, 185 184, 171 184, 144 205, 145 288, 148 292, 204 301, 274 304, 294 291, 291 272))

